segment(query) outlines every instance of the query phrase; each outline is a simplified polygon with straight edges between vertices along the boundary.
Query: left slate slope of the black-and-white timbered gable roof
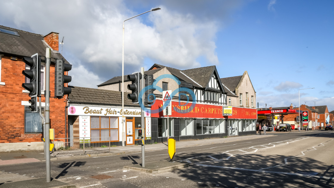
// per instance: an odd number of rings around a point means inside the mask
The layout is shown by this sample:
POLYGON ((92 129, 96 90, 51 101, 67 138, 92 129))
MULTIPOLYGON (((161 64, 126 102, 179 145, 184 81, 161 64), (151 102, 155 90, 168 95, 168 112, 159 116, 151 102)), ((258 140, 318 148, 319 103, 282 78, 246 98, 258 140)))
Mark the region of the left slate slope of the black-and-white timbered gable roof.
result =
POLYGON ((215 66, 208 66, 183 70, 182 72, 191 79, 193 79, 195 82, 197 82, 199 85, 201 85, 203 88, 205 88, 206 85, 209 83, 209 80, 211 79, 211 75, 214 69, 215 66))

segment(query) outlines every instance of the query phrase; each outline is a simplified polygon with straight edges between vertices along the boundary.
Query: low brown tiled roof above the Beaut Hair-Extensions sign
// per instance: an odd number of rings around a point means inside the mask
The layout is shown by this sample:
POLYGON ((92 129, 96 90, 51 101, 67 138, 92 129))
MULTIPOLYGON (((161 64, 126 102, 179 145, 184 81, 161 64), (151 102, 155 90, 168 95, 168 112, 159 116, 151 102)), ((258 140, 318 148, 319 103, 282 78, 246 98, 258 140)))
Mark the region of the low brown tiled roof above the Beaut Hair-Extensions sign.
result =
MULTIPOLYGON (((68 99, 71 103, 91 103, 104 104, 110 106, 122 106, 122 92, 111 91, 104 89, 94 89, 85 87, 70 86, 72 88, 68 99)), ((139 107, 138 104, 133 104, 127 97, 128 93, 124 92, 124 106, 139 107)))

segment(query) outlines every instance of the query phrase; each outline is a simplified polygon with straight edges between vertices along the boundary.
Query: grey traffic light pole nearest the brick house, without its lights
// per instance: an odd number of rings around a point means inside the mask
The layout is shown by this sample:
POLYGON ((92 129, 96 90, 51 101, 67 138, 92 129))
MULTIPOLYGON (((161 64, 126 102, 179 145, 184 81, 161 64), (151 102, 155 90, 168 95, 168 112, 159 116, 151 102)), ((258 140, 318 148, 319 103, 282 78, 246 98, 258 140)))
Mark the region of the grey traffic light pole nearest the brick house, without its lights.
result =
POLYGON ((50 171, 50 53, 51 49, 46 48, 45 61, 45 145, 46 145, 46 182, 51 181, 50 171))

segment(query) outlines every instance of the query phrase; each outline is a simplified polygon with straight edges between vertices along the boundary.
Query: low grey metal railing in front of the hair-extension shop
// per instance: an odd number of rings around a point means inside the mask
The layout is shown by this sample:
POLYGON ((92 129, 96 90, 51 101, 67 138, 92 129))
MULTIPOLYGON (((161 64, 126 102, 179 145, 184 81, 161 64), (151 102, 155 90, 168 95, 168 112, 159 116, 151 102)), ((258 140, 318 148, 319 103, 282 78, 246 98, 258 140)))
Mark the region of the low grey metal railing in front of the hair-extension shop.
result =
POLYGON ((54 157, 110 152, 110 137, 56 138, 54 157))

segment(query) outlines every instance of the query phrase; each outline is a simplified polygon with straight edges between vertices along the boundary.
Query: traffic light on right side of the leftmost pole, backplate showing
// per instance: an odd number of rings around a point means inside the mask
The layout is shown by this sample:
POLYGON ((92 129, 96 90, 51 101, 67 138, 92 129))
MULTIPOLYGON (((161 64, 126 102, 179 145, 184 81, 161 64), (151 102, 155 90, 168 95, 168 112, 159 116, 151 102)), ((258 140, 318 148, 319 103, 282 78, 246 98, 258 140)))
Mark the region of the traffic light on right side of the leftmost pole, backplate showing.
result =
POLYGON ((65 87, 64 83, 68 83, 72 80, 71 76, 64 75, 65 71, 70 71, 72 65, 66 64, 64 60, 57 60, 54 67, 54 98, 61 99, 64 95, 68 95, 72 92, 72 89, 65 87))

